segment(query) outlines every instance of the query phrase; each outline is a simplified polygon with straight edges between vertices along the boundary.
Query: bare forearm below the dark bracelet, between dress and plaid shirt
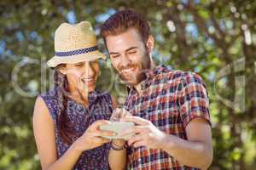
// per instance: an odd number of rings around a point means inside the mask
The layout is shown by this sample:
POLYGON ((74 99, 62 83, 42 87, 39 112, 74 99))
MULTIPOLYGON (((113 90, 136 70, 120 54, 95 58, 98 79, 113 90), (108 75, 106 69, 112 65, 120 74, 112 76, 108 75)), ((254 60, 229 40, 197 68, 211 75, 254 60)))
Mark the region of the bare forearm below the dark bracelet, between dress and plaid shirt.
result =
POLYGON ((126 149, 109 150, 108 155, 109 166, 112 170, 122 170, 126 167, 126 149))

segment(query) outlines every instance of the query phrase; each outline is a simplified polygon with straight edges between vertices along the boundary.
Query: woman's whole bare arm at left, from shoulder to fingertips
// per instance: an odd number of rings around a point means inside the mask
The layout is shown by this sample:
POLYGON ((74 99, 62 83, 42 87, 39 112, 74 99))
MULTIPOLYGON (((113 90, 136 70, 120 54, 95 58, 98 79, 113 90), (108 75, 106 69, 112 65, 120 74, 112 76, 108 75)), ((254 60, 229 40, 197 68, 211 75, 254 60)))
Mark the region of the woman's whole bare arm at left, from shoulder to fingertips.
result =
POLYGON ((57 160, 55 125, 44 100, 38 97, 33 113, 33 130, 42 169, 72 169, 84 150, 91 150, 108 143, 109 139, 103 139, 101 136, 114 136, 115 133, 99 130, 99 127, 104 124, 109 124, 109 122, 106 120, 93 122, 84 134, 71 144, 65 154, 57 160))

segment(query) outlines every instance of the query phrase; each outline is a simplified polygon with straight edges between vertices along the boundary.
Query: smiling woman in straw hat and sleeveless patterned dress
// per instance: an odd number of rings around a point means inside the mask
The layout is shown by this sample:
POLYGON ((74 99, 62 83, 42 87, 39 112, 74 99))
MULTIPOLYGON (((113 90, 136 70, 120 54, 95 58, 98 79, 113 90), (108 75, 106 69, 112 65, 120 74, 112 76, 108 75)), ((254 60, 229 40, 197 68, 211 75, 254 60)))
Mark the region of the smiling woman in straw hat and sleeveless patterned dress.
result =
POLYGON ((42 169, 109 169, 108 139, 100 131, 113 105, 108 93, 96 90, 96 36, 87 21, 61 24, 55 31, 55 88, 41 94, 33 113, 33 130, 42 169))

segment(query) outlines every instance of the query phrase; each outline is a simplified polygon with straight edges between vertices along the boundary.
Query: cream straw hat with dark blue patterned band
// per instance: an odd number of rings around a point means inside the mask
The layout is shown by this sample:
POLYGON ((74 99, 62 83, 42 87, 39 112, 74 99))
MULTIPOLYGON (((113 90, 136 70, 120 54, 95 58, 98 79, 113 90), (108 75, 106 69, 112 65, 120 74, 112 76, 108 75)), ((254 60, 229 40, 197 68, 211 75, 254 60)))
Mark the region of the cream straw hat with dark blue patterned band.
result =
POLYGON ((97 49, 96 35, 90 22, 62 23, 55 31, 55 56, 47 61, 47 65, 55 67, 100 58, 106 59, 106 55, 97 49))

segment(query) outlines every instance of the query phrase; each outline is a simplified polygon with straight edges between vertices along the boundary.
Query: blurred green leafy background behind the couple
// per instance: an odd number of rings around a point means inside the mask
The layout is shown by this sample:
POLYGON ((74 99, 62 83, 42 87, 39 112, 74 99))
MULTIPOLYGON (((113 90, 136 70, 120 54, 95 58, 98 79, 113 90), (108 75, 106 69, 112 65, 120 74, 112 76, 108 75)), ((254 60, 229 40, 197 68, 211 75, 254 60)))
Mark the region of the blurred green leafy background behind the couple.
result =
MULTIPOLYGON (((253 0, 1 0, 0 169, 40 169, 32 133, 36 96, 51 88, 45 61, 54 55, 62 23, 89 20, 99 28, 111 14, 134 8, 149 21, 154 60, 195 71, 207 84, 214 159, 210 169, 256 167, 256 1, 253 0)), ((125 99, 109 60, 98 87, 125 99)))

